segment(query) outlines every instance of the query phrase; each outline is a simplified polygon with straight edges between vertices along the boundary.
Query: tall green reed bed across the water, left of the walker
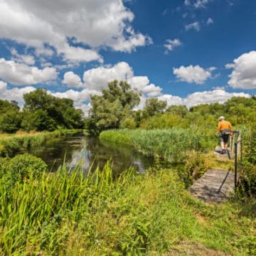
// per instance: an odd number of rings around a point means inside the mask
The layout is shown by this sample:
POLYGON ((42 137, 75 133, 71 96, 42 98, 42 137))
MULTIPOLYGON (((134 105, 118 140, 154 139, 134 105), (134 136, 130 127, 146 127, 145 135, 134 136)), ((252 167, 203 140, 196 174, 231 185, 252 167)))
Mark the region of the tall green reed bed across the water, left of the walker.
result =
POLYGON ((194 129, 110 130, 100 139, 132 145, 146 156, 171 163, 184 162, 191 150, 206 149, 205 138, 194 129))

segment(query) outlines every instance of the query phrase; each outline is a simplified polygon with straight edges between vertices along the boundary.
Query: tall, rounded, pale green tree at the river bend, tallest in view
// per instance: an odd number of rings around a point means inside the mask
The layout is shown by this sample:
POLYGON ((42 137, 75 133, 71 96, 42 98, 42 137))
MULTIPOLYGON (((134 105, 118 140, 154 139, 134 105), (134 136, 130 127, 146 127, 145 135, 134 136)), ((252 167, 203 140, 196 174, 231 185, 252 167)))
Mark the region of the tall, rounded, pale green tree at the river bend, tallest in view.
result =
POLYGON ((139 95, 131 90, 131 85, 127 82, 109 82, 108 89, 102 90, 102 95, 91 97, 90 121, 100 131, 119 128, 122 120, 131 116, 132 108, 139 101, 139 95))

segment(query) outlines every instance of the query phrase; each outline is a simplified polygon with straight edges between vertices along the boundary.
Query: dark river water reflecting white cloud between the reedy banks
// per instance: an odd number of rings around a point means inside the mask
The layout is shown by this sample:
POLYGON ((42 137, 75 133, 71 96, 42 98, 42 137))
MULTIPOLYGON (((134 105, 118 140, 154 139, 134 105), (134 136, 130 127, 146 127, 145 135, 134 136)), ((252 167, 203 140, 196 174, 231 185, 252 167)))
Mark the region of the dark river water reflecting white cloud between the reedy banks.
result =
POLYGON ((29 153, 41 157, 52 171, 63 165, 64 160, 68 166, 79 163, 82 169, 87 170, 92 164, 93 169, 97 166, 102 169, 107 160, 111 159, 112 169, 116 174, 130 166, 143 173, 153 164, 153 159, 146 158, 128 146, 103 142, 83 134, 52 139, 43 146, 31 149, 29 153))

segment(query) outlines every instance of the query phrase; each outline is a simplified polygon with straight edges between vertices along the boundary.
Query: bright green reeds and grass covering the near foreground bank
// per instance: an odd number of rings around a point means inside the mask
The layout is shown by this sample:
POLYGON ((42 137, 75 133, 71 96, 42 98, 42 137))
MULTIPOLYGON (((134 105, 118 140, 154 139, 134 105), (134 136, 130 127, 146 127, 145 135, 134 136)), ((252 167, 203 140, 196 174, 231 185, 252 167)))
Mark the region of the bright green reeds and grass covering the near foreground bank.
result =
POLYGON ((237 202, 191 198, 171 169, 129 170, 112 180, 110 164, 27 176, 11 189, 1 178, 1 255, 253 255, 255 212, 237 202))

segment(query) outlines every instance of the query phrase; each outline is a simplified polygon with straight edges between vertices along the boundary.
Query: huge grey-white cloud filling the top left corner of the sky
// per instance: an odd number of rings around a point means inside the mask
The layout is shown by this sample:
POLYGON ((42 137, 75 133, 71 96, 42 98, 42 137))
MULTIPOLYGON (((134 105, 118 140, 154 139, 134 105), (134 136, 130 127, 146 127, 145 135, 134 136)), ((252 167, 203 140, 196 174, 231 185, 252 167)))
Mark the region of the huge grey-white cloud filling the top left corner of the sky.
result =
POLYGON ((32 46, 43 55, 52 55, 54 48, 71 62, 102 62, 95 50, 100 47, 130 52, 151 43, 149 36, 134 32, 133 19, 119 0, 0 1, 1 38, 32 46))

